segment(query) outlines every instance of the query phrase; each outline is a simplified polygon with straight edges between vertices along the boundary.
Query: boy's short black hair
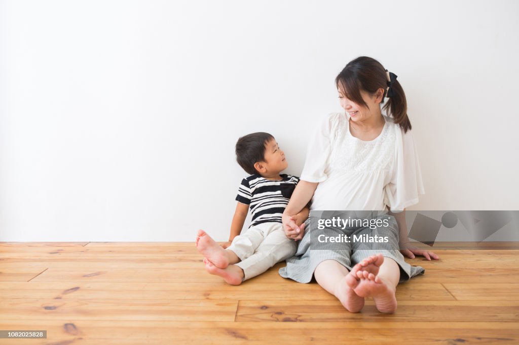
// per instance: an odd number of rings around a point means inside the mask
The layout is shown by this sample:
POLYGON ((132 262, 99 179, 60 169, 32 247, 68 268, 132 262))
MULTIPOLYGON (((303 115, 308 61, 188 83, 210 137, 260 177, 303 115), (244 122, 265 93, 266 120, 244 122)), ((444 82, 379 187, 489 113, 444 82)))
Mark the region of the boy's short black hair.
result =
POLYGON ((274 136, 265 132, 247 134, 236 142, 236 161, 249 174, 259 174, 254 163, 265 162, 265 144, 274 136))

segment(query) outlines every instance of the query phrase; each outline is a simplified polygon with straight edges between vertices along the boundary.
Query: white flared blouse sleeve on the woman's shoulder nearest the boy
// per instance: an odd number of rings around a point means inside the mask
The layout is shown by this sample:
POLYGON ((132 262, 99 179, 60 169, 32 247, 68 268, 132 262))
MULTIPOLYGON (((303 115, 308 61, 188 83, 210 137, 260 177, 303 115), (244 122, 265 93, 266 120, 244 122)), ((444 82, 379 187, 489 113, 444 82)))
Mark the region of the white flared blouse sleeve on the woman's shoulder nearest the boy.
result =
POLYGON ((328 178, 325 169, 330 157, 332 121, 335 117, 334 113, 321 117, 319 124, 310 135, 301 180, 322 182, 328 178))

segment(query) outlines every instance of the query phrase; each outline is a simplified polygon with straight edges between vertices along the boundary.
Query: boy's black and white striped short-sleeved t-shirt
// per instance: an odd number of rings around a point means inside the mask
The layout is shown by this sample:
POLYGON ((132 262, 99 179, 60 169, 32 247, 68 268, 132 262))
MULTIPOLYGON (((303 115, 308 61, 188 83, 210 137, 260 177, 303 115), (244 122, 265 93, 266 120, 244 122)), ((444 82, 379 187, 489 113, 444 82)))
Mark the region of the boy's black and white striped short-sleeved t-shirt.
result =
POLYGON ((281 181, 267 180, 258 174, 245 177, 241 181, 236 200, 250 205, 252 221, 249 227, 267 222, 281 223, 281 215, 299 178, 286 174, 279 176, 281 181))

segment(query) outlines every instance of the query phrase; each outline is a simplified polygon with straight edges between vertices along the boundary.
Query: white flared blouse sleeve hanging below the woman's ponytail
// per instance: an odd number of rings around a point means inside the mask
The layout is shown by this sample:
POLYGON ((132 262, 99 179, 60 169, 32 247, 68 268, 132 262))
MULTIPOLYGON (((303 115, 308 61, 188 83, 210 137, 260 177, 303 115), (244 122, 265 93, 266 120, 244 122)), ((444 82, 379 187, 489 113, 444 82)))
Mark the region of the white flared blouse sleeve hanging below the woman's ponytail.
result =
POLYGON ((397 147, 390 182, 385 186, 384 203, 392 211, 418 203, 418 195, 425 194, 420 162, 411 130, 397 130, 397 147))

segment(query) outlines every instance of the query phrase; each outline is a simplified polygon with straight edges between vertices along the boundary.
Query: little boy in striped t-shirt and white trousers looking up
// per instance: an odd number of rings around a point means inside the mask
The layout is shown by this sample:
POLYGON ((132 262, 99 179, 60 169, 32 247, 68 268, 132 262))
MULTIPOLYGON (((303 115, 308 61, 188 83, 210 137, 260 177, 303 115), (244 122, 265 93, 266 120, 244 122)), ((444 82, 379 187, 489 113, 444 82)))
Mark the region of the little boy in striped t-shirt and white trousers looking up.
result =
MULTIPOLYGON (((264 132, 239 138, 236 160, 251 175, 241 181, 229 241, 222 248, 206 232, 199 230, 195 242, 204 256, 206 270, 231 285, 239 285, 262 274, 293 256, 297 249, 296 242, 283 231, 281 215, 299 178, 280 175, 288 163, 276 139, 264 132), (240 235, 249 206, 251 225, 240 235)), ((295 223, 298 226, 304 223, 308 213, 309 209, 305 207, 294 216, 295 223)))

